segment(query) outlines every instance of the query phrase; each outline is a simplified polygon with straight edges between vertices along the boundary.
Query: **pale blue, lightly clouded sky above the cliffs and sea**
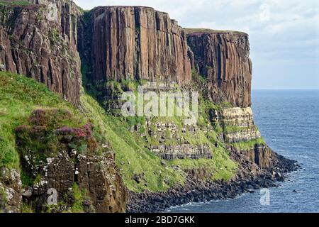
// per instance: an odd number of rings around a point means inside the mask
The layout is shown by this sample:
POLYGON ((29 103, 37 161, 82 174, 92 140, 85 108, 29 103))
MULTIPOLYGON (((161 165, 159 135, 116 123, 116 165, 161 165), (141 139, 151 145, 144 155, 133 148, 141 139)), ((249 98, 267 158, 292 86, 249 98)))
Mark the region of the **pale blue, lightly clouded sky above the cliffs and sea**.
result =
POLYGON ((319 89, 318 0, 74 0, 95 6, 151 6, 184 28, 250 35, 253 89, 319 89))

